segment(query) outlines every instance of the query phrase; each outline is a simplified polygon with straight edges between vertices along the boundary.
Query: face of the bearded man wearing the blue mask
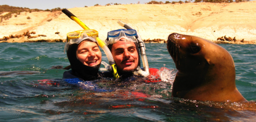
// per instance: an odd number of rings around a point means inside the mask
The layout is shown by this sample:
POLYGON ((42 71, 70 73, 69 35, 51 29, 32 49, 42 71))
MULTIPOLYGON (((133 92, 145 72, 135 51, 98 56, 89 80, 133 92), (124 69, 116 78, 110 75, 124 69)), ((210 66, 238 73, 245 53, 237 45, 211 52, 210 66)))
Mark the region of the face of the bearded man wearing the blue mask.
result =
POLYGON ((120 39, 112 45, 112 55, 120 72, 131 73, 138 67, 138 52, 134 42, 120 39))

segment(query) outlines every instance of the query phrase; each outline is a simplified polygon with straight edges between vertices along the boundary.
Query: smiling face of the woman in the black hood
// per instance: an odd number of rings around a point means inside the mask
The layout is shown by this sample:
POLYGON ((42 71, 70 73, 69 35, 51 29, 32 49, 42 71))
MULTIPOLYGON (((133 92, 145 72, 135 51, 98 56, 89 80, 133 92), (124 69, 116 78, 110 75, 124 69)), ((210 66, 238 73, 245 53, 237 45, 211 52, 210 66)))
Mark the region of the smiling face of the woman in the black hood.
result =
POLYGON ((102 62, 102 52, 95 42, 83 41, 78 45, 76 57, 84 65, 93 67, 102 62))

